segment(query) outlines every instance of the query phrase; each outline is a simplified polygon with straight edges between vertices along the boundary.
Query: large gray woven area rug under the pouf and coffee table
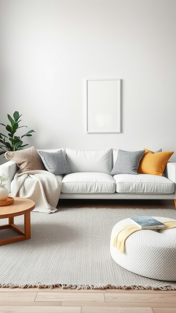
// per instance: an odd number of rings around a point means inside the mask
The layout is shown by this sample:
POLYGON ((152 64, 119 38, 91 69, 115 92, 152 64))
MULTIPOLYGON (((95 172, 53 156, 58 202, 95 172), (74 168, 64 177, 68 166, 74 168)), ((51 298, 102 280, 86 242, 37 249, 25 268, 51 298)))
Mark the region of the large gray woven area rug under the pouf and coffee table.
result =
MULTIPOLYGON (((140 215, 176 219, 176 210, 59 208, 51 214, 31 212, 32 238, 0 246, 0 286, 176 290, 176 281, 133 274, 111 258, 113 226, 140 215)), ((23 216, 14 222, 23 226, 23 216)), ((7 238, 12 233, 3 229, 0 235, 7 238)))

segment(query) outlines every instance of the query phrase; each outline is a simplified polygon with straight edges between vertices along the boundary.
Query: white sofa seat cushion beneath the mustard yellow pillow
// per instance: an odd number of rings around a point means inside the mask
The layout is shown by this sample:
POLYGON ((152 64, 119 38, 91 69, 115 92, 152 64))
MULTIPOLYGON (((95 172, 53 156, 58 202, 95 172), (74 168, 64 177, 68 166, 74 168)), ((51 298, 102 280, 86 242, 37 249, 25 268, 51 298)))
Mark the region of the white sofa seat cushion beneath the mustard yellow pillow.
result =
POLYGON ((174 183, 166 177, 150 174, 114 175, 116 192, 133 194, 167 194, 174 192, 174 183))

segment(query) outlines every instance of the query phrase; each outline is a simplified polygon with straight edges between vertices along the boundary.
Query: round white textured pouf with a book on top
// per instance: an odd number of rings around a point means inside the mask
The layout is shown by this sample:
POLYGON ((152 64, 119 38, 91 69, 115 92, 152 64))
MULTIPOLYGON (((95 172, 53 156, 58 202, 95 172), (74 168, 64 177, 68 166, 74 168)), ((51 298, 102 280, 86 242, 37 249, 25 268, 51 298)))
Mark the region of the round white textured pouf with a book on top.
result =
MULTIPOLYGON (((154 216, 160 222, 172 218, 154 216)), ((119 228, 133 224, 126 218, 113 227, 110 252, 114 261, 123 268, 148 278, 176 280, 176 228, 143 229, 132 233, 125 242, 125 253, 113 247, 119 228)))

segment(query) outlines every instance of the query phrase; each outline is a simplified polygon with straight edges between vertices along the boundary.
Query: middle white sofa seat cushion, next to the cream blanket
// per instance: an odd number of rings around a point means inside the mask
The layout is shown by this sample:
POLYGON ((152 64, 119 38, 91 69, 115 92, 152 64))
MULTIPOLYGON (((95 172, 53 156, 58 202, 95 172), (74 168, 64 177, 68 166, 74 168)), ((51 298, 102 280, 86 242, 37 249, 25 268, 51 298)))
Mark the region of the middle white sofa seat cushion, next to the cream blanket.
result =
POLYGON ((64 176, 62 180, 63 193, 113 193, 116 183, 113 177, 106 173, 78 172, 64 176))

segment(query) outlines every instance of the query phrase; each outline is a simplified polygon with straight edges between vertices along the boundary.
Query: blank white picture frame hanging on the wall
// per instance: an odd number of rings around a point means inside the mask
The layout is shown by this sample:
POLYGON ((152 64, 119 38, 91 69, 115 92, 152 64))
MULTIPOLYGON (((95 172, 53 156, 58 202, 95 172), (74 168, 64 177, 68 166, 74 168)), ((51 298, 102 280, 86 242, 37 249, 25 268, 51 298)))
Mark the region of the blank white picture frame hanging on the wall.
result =
POLYGON ((86 132, 120 133, 120 79, 86 79, 86 132))

